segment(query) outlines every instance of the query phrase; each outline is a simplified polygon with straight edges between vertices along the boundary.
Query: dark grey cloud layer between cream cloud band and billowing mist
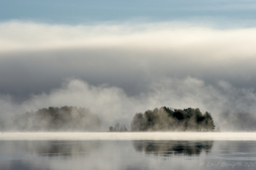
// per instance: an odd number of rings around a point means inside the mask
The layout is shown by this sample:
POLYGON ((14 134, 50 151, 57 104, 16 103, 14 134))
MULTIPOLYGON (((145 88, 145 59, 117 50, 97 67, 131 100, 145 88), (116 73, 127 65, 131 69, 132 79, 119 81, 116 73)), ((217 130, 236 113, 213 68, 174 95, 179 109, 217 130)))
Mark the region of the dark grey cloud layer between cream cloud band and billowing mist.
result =
POLYGON ((254 88, 256 59, 214 59, 119 48, 71 49, 4 54, 0 62, 1 94, 24 99, 49 92, 67 78, 92 85, 108 83, 128 95, 148 90, 159 79, 195 77, 213 86, 219 81, 254 88))

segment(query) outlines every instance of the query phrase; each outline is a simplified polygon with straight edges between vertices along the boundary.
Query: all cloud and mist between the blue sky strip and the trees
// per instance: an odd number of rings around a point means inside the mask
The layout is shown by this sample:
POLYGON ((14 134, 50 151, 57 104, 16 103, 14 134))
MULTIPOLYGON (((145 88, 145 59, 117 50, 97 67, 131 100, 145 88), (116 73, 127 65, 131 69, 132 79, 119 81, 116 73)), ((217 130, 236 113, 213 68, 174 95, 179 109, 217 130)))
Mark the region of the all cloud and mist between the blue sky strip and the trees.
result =
POLYGON ((0 113, 83 107, 104 131, 116 122, 130 128, 132 116, 156 107, 192 107, 210 112, 221 131, 246 131, 236 113, 256 121, 255 37, 255 28, 177 22, 3 22, 0 113))

